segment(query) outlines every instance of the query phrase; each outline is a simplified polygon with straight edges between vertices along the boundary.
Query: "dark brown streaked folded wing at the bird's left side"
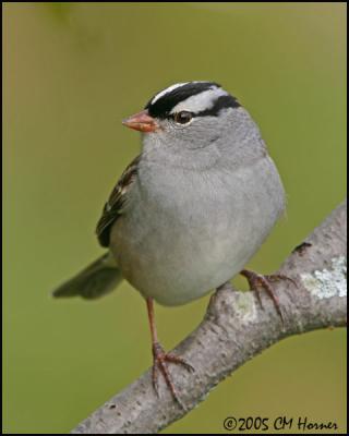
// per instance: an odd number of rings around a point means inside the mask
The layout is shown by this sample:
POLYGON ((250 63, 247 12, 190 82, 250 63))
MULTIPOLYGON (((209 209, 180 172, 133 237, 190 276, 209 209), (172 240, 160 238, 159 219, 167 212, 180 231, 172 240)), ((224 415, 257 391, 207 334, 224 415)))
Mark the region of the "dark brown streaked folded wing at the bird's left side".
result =
POLYGON ((116 187, 112 190, 108 202, 105 204, 101 217, 97 222, 96 228, 98 241, 101 246, 109 246, 110 228, 122 214, 122 206, 127 198, 127 194, 137 173, 139 161, 140 156, 133 159, 127 167, 116 187))

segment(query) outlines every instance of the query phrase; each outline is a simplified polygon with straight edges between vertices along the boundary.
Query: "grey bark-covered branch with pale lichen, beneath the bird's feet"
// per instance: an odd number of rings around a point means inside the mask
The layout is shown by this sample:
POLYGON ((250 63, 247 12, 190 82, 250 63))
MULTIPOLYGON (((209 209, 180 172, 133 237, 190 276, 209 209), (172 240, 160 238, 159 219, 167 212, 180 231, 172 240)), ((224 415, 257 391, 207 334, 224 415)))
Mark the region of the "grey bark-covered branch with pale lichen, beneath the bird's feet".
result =
POLYGON ((262 310, 255 292, 226 287, 215 294, 204 320, 174 349, 195 367, 194 373, 177 365, 170 368, 186 411, 172 400, 165 383, 160 383, 160 399, 157 398, 147 371, 72 433, 157 433, 195 408, 219 382, 273 343, 291 335, 345 326, 346 222, 345 202, 293 250, 279 269, 298 284, 296 288, 288 280, 275 283, 286 319, 284 328, 267 295, 262 295, 262 310))

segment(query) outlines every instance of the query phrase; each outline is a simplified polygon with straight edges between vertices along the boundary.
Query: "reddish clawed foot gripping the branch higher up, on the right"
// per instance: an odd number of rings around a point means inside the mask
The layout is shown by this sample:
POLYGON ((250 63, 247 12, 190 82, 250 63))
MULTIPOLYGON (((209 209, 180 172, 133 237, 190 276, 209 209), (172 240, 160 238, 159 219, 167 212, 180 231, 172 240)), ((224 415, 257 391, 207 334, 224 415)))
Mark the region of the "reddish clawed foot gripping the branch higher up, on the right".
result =
POLYGON ((263 276, 262 274, 257 274, 257 272, 254 272, 254 271, 251 271, 251 270, 248 270, 248 269, 242 269, 242 271, 240 271, 240 274, 241 274, 241 276, 243 276, 243 277, 245 277, 248 279, 250 289, 256 291, 257 299, 258 299, 258 302, 261 304, 261 307, 263 307, 262 306, 261 295, 260 295, 261 289, 264 289, 268 293, 268 295, 273 300, 273 303, 274 303, 278 314, 280 315, 282 324, 285 324, 284 315, 282 315, 282 311, 281 311, 281 306, 280 306, 279 300, 275 295, 273 286, 270 283, 275 282, 275 281, 279 281, 279 280, 289 280, 296 287, 297 287, 297 283, 292 279, 290 279, 289 277, 284 276, 281 274, 263 276))

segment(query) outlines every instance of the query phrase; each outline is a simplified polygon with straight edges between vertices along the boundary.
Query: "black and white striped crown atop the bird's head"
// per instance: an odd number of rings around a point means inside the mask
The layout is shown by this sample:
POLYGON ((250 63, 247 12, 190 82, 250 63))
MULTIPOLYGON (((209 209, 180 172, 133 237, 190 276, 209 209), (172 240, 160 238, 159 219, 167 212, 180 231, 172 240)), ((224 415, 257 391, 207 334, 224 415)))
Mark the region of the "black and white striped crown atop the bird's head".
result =
POLYGON ((154 118, 167 118, 182 110, 195 116, 216 117, 225 108, 239 102, 214 82, 177 83, 156 94, 145 106, 154 118))

